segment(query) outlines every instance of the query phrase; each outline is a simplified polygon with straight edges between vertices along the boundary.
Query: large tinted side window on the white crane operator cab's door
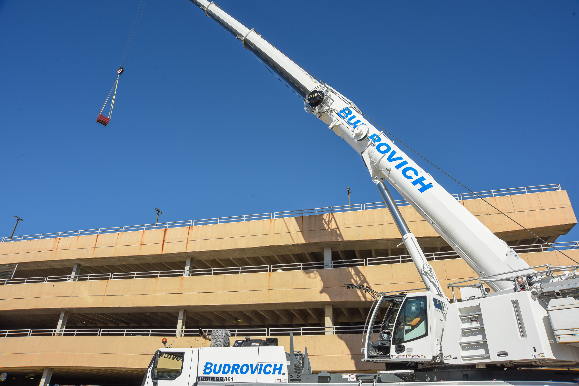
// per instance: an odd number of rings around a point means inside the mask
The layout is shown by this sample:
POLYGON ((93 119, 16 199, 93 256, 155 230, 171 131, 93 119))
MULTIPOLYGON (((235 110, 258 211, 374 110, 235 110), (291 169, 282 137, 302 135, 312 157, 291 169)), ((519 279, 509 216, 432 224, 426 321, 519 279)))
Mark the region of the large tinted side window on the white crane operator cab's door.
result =
POLYGON ((394 323, 394 344, 402 344, 428 335, 426 296, 407 297, 394 323))

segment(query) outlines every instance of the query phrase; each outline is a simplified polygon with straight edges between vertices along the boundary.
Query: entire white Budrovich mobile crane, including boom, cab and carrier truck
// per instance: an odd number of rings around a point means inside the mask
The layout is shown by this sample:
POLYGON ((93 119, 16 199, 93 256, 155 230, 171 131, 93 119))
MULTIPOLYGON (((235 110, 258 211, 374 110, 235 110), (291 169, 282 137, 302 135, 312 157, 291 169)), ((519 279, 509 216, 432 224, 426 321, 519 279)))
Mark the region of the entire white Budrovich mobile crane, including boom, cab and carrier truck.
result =
MULTIPOLYGON (((468 374, 472 369, 477 369, 471 374, 475 379, 493 379, 488 377, 493 372, 488 367, 491 365, 524 367, 528 370, 517 370, 516 374, 520 375, 512 379, 533 384, 533 380, 538 379, 533 369, 565 369, 577 365, 579 265, 530 267, 373 126, 348 98, 328 84, 318 82, 254 28, 245 27, 213 1, 190 1, 273 69, 301 95, 307 113, 322 120, 361 155, 400 230, 401 244, 411 255, 424 288, 419 292, 389 294, 348 285, 350 289, 369 292, 375 299, 362 334, 362 361, 386 363, 387 370, 378 374, 353 377, 349 377, 353 374, 346 374, 348 377, 342 374, 341 378, 340 374, 326 372, 311 374, 311 370, 307 370, 307 355, 306 363, 296 372, 293 347, 288 354, 277 347, 277 340, 268 343, 247 337, 247 344, 239 340, 234 347, 229 347, 229 339, 220 339, 222 344, 216 345, 226 347, 162 348, 153 358, 144 384, 179 384, 175 382, 178 362, 187 368, 188 375, 181 378, 183 384, 188 384, 187 378, 199 386, 288 383, 288 380, 290 383, 345 383, 346 378, 360 384, 434 381, 437 373, 440 381, 443 370, 447 380, 470 382, 468 374), (455 289, 460 289, 462 302, 453 299, 450 303, 445 296, 433 267, 402 218, 385 182, 479 275, 474 284, 449 285, 453 294, 455 289), (563 273, 555 275, 555 272, 563 273), (372 341, 376 330, 378 339, 372 341), (413 375, 407 377, 404 375, 407 372, 413 375), (461 377, 457 378, 457 374, 461 377)), ((216 341, 213 340, 212 345, 216 341)), ((544 376, 549 370, 541 371, 544 376)), ((570 376, 566 379, 571 380, 570 376)))

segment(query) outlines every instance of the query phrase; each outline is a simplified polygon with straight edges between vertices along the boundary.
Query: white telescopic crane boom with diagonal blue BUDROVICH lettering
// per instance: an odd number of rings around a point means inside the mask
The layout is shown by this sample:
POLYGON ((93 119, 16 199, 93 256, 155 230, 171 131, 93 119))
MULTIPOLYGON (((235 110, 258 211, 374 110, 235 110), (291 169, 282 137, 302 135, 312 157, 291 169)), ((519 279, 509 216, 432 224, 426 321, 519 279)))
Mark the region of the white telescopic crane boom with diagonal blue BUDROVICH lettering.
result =
MULTIPOLYGON (((323 120, 362 155, 373 182, 390 182, 479 276, 529 269, 529 264, 519 258, 512 248, 438 185, 430 174, 423 171, 382 131, 368 122, 353 102, 327 84, 317 82, 255 30, 245 27, 215 3, 206 0, 190 1, 236 36, 297 93, 306 97, 309 102, 305 104, 306 111, 323 120)), ((420 259, 415 256, 412 258, 418 267, 420 259)), ((420 271, 429 288, 432 282, 429 284, 426 281, 425 273, 420 271)), ((501 277, 508 277, 508 274, 497 275, 495 278, 501 277)), ((512 288, 512 284, 505 281, 493 282, 489 286, 494 291, 512 288)))

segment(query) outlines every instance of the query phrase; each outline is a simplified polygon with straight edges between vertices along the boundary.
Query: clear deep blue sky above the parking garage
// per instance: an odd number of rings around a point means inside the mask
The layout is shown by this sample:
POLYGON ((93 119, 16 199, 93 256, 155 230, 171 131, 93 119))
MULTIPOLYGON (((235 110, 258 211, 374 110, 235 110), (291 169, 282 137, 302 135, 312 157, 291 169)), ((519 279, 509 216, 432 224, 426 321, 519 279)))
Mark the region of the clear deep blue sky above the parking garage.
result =
MULTIPOLYGON (((186 0, 0 1, 0 236, 379 201, 353 150, 186 0)), ((577 1, 218 5, 473 190, 579 205, 577 1)), ((465 192, 413 157, 450 193, 465 192)), ((579 240, 579 231, 559 240, 579 240)))

